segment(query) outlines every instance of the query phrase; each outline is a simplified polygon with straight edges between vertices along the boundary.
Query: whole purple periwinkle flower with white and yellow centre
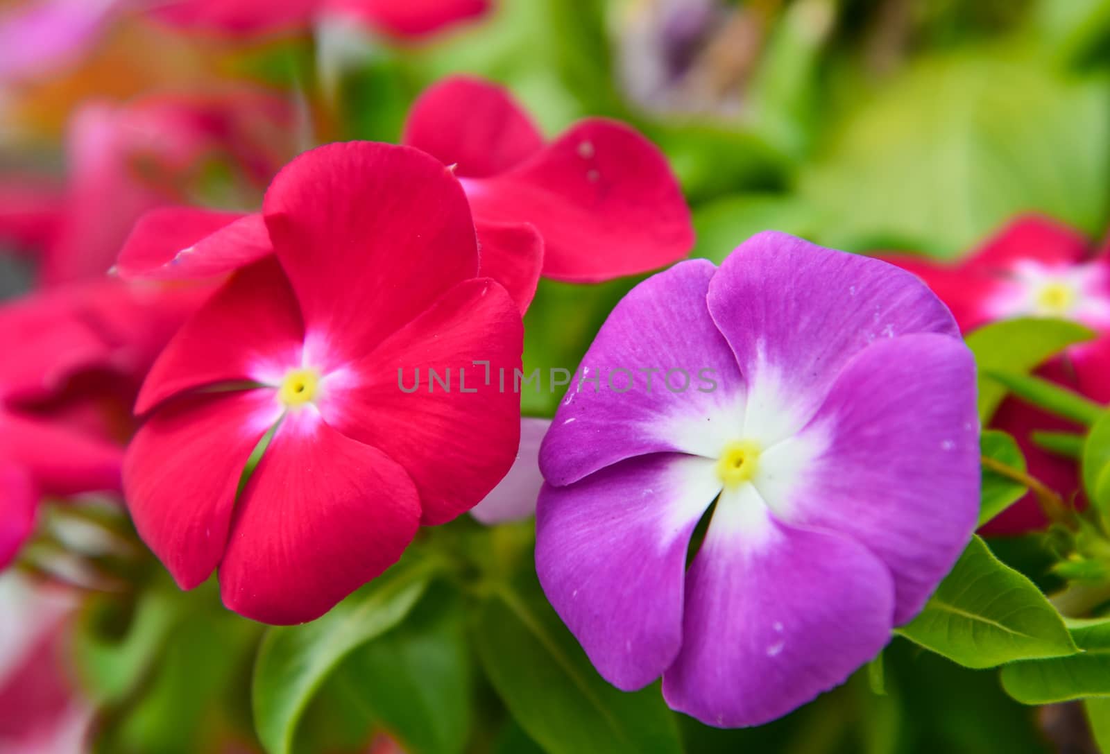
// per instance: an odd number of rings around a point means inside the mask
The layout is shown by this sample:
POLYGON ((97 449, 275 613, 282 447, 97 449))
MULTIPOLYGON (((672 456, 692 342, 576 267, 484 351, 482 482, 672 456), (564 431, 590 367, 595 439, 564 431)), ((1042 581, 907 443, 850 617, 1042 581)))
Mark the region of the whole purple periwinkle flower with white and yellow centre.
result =
MULTIPOLYGON (((572 386, 541 451, 541 583, 601 674, 758 725, 912 619, 976 524, 975 365, 885 262, 781 233, 634 289, 583 369, 712 369, 716 390, 572 386), (714 501, 715 504, 714 504, 714 501), (705 539, 687 570, 698 522, 705 539)), ((596 370, 596 371, 595 371, 596 370)))

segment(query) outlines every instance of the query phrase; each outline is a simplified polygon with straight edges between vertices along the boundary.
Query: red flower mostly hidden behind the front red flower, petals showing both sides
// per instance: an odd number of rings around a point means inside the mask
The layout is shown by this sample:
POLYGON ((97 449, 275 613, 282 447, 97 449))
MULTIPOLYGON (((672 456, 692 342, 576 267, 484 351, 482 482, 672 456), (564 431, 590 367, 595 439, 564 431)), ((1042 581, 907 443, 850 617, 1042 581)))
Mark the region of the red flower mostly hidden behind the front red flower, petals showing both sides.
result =
MULTIPOLYGON (((504 90, 453 78, 416 101, 404 140, 460 177, 477 225, 482 274, 504 285, 521 311, 541 272, 597 282, 665 267, 694 244, 689 210, 666 159, 627 125, 588 119, 545 147, 504 90)), ((269 252, 258 215, 171 208, 140 220, 117 269, 125 278, 199 278, 269 252)))

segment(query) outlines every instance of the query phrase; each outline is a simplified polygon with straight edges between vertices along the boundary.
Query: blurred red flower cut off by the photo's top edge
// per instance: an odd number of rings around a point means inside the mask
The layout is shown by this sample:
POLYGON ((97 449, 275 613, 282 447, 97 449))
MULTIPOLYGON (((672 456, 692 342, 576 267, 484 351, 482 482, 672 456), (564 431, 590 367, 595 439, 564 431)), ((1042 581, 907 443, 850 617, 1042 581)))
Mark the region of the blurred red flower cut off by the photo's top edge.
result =
POLYGON ((153 12, 178 26, 240 34, 304 28, 317 16, 342 14, 394 37, 420 37, 488 10, 490 0, 175 0, 153 12))

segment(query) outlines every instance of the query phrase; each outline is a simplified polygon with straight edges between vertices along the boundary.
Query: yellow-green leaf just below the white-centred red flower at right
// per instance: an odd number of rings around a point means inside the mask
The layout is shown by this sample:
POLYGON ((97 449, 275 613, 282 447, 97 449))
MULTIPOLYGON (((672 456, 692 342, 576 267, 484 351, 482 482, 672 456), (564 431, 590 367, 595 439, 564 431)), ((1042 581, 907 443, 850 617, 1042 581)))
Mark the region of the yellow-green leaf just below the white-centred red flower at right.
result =
POLYGON ((1006 388, 986 376, 987 372, 1031 372, 1069 345, 1093 336, 1074 322, 1048 319, 1005 320, 969 334, 968 348, 979 366, 979 418, 986 423, 1006 398, 1006 388))

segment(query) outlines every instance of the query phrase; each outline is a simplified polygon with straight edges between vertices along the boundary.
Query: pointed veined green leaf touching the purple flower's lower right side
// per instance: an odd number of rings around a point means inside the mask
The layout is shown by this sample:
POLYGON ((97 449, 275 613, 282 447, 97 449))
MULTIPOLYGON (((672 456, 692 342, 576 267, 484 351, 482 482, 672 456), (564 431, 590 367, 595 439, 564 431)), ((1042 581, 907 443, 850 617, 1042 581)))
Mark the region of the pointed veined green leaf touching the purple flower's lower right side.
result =
POLYGON ((898 633, 973 668, 1076 652, 1052 603, 978 536, 920 615, 898 633))

